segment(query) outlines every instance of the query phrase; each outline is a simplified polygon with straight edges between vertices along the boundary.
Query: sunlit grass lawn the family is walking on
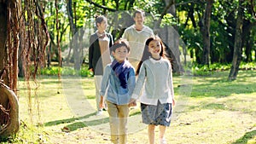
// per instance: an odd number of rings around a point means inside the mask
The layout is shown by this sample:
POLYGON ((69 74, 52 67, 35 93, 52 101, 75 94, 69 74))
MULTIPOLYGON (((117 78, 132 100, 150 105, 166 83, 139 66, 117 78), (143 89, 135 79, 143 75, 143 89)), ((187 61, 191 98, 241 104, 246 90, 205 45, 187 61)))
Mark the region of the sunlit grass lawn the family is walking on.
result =
MULTIPOLYGON (((166 130, 168 143, 256 143, 256 72, 240 71, 233 82, 227 80, 228 74, 173 77, 177 106, 166 130)), ((20 79, 21 127, 10 142, 110 143, 108 113, 95 116, 93 78, 63 77, 60 83, 58 78, 41 76, 31 87, 30 97, 26 83, 20 79)), ((148 143, 139 107, 130 113, 129 143, 148 143)), ((156 129, 156 143, 158 135, 156 129)))

